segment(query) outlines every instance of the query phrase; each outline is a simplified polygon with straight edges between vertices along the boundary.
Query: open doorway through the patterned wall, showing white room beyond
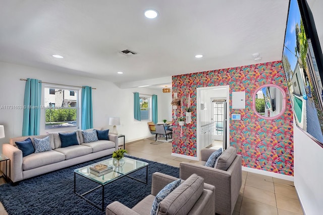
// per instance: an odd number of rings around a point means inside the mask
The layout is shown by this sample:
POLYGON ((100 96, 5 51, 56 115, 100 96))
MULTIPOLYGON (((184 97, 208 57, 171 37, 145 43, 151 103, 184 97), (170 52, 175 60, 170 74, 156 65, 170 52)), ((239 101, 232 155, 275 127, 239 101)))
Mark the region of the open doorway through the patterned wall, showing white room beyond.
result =
POLYGON ((227 148, 229 140, 229 86, 197 88, 197 154, 201 149, 227 148), (210 134, 206 134, 208 130, 210 134), (211 145, 211 146, 210 146, 211 145))

